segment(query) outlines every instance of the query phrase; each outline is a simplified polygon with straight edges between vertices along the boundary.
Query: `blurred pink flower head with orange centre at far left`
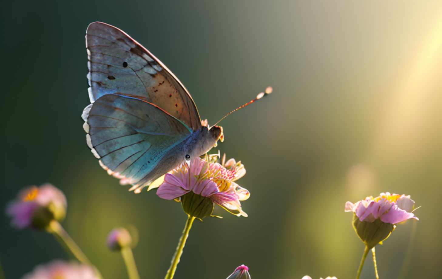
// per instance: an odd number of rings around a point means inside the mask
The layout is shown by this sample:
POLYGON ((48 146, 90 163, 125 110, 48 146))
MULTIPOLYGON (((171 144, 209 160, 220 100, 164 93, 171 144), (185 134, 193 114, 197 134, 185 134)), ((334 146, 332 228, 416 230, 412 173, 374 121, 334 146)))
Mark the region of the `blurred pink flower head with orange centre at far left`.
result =
POLYGON ((53 219, 64 219, 66 207, 65 195, 46 183, 21 190, 17 198, 8 203, 6 214, 12 218, 11 225, 17 229, 29 226, 44 228, 53 219))

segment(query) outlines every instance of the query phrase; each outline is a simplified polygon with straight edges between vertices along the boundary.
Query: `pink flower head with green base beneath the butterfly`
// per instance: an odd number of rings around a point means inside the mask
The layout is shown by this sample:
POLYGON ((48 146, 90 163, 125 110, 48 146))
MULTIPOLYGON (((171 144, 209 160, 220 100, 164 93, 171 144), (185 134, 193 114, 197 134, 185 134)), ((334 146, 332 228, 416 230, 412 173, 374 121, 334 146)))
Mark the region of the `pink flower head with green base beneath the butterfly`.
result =
POLYGON ((214 204, 247 217, 240 201, 247 200, 250 193, 235 182, 245 175, 244 165, 234 159, 225 162, 225 157, 217 163, 216 155, 208 158, 195 158, 176 167, 165 175, 156 194, 166 200, 179 198, 184 211, 198 219, 210 216, 214 204))

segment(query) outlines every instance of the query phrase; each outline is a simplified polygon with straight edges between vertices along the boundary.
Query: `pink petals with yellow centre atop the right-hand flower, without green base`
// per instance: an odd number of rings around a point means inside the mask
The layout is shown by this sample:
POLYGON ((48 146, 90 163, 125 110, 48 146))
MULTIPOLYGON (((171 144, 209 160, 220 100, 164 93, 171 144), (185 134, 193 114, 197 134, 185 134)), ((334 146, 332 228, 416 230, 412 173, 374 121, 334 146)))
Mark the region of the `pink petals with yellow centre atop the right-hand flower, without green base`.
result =
POLYGON ((360 221, 373 222, 380 218, 383 223, 396 224, 414 218, 419 220, 413 213, 415 202, 410 196, 381 193, 379 197, 366 197, 365 200, 355 204, 347 201, 346 212, 354 212, 360 221))

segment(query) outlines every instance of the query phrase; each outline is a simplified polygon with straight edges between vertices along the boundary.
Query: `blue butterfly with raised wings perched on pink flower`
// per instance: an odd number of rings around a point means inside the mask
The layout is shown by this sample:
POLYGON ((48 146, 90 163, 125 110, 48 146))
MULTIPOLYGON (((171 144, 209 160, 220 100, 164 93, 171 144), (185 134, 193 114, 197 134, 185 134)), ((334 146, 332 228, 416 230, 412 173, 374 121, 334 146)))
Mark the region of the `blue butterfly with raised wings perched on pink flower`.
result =
POLYGON ((133 185, 130 190, 150 189, 184 160, 223 141, 222 127, 201 121, 178 78, 122 30, 92 22, 86 50, 91 101, 82 114, 86 142, 110 175, 133 185))

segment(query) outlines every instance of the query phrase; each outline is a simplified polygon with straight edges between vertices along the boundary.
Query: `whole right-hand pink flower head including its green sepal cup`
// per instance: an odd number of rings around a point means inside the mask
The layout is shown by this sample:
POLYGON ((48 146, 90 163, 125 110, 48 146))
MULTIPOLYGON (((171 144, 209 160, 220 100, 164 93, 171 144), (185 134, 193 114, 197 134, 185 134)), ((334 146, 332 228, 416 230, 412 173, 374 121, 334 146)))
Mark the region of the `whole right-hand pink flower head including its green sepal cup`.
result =
POLYGON ((346 212, 354 212, 353 228, 368 249, 387 239, 397 223, 408 219, 419 220, 413 213, 415 202, 410 196, 381 193, 366 197, 355 204, 347 201, 346 212))

